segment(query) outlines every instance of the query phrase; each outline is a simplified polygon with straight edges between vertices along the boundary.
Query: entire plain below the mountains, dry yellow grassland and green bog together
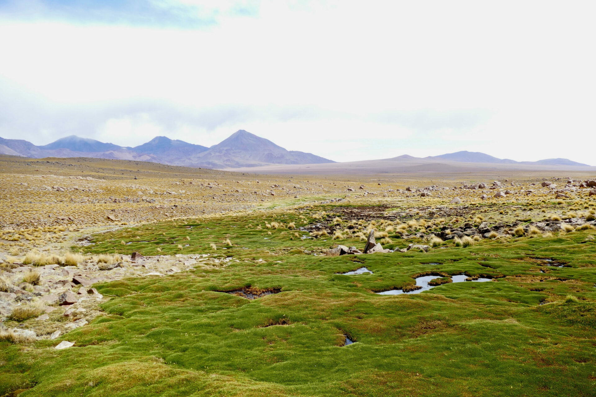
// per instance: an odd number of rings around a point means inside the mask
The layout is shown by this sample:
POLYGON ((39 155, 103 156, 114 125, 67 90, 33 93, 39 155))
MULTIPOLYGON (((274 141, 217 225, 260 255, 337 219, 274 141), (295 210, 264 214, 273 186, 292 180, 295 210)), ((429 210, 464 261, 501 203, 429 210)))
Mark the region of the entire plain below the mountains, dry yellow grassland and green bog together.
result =
POLYGON ((594 395, 593 171, 266 169, 1 156, 0 395, 594 395))

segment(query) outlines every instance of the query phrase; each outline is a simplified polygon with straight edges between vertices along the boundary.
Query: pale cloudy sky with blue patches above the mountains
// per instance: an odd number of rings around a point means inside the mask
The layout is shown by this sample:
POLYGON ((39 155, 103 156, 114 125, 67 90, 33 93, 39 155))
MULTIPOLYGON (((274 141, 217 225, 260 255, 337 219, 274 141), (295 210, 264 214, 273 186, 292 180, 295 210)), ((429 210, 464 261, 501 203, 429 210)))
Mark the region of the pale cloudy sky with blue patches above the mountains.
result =
POLYGON ((336 161, 467 150, 596 165, 594 11, 0 0, 0 136, 211 146, 244 129, 336 161))

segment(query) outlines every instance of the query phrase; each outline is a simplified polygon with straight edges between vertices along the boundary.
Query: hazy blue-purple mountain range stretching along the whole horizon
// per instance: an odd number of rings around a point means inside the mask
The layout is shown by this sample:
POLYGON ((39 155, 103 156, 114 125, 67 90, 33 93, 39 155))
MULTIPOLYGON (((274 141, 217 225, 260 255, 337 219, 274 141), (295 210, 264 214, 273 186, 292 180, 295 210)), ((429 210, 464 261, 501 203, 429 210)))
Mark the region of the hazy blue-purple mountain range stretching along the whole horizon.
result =
MULTIPOLYGON (((256 136, 245 130, 238 130, 228 138, 210 148, 183 140, 173 140, 165 136, 156 136, 147 143, 132 147, 118 146, 94 139, 75 135, 67 136, 44 146, 36 146, 21 139, 0 137, 0 154, 22 157, 95 157, 114 160, 154 161, 169 165, 188 167, 206 167, 216 169, 268 167, 271 165, 331 164, 335 161, 311 153, 288 151, 275 145, 271 140, 256 136)), ((555 167, 589 167, 587 164, 566 158, 550 158, 539 161, 514 161, 496 158, 481 152, 460 151, 439 156, 417 158, 409 155, 386 160, 397 164, 429 164, 439 162, 477 163, 477 164, 513 164, 513 165, 550 165, 555 167), (418 162, 416 162, 418 161, 418 162)), ((347 164, 347 163, 346 163, 347 164)), ((417 165, 418 166, 418 165, 417 165)), ((285 167, 288 170, 291 168, 285 167)), ((284 169, 285 169, 284 168, 284 169)), ((296 168, 296 167, 294 167, 296 168)), ((327 167, 329 168, 329 167, 327 167)), ((333 167, 329 168, 330 170, 333 167)))

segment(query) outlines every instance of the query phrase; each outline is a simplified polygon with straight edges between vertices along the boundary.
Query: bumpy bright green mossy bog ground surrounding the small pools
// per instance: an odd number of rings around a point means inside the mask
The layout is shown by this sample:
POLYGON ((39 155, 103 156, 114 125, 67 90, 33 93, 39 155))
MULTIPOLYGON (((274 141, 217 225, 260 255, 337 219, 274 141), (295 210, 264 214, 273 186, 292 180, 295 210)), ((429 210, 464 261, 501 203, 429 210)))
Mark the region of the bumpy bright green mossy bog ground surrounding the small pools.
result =
MULTIPOLYGON (((333 240, 299 230, 349 227, 334 220, 340 212, 311 205, 95 236, 86 251, 229 260, 97 285, 112 299, 88 326, 34 345, 0 342, 0 395, 596 394, 594 230, 322 256, 333 243, 364 247, 355 233, 333 240), (360 267, 373 274, 338 274, 360 267), (462 273, 493 280, 374 293, 414 285, 421 274, 462 273), (222 292, 249 286, 281 292, 254 300, 222 292), (355 343, 344 346, 346 336, 355 343), (75 346, 53 349, 60 340, 75 346)), ((387 238, 389 248, 419 241, 387 238)))

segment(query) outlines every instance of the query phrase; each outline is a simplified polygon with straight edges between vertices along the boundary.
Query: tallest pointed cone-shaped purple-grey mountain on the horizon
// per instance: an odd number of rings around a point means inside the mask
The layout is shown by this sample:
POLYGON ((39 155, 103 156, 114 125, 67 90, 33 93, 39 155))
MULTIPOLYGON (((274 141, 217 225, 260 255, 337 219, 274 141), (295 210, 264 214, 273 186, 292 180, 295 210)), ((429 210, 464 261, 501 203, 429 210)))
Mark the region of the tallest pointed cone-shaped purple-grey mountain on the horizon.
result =
POLYGON ((311 153, 288 151, 271 140, 238 130, 209 150, 188 159, 194 166, 256 167, 266 164, 322 164, 334 162, 311 153))

